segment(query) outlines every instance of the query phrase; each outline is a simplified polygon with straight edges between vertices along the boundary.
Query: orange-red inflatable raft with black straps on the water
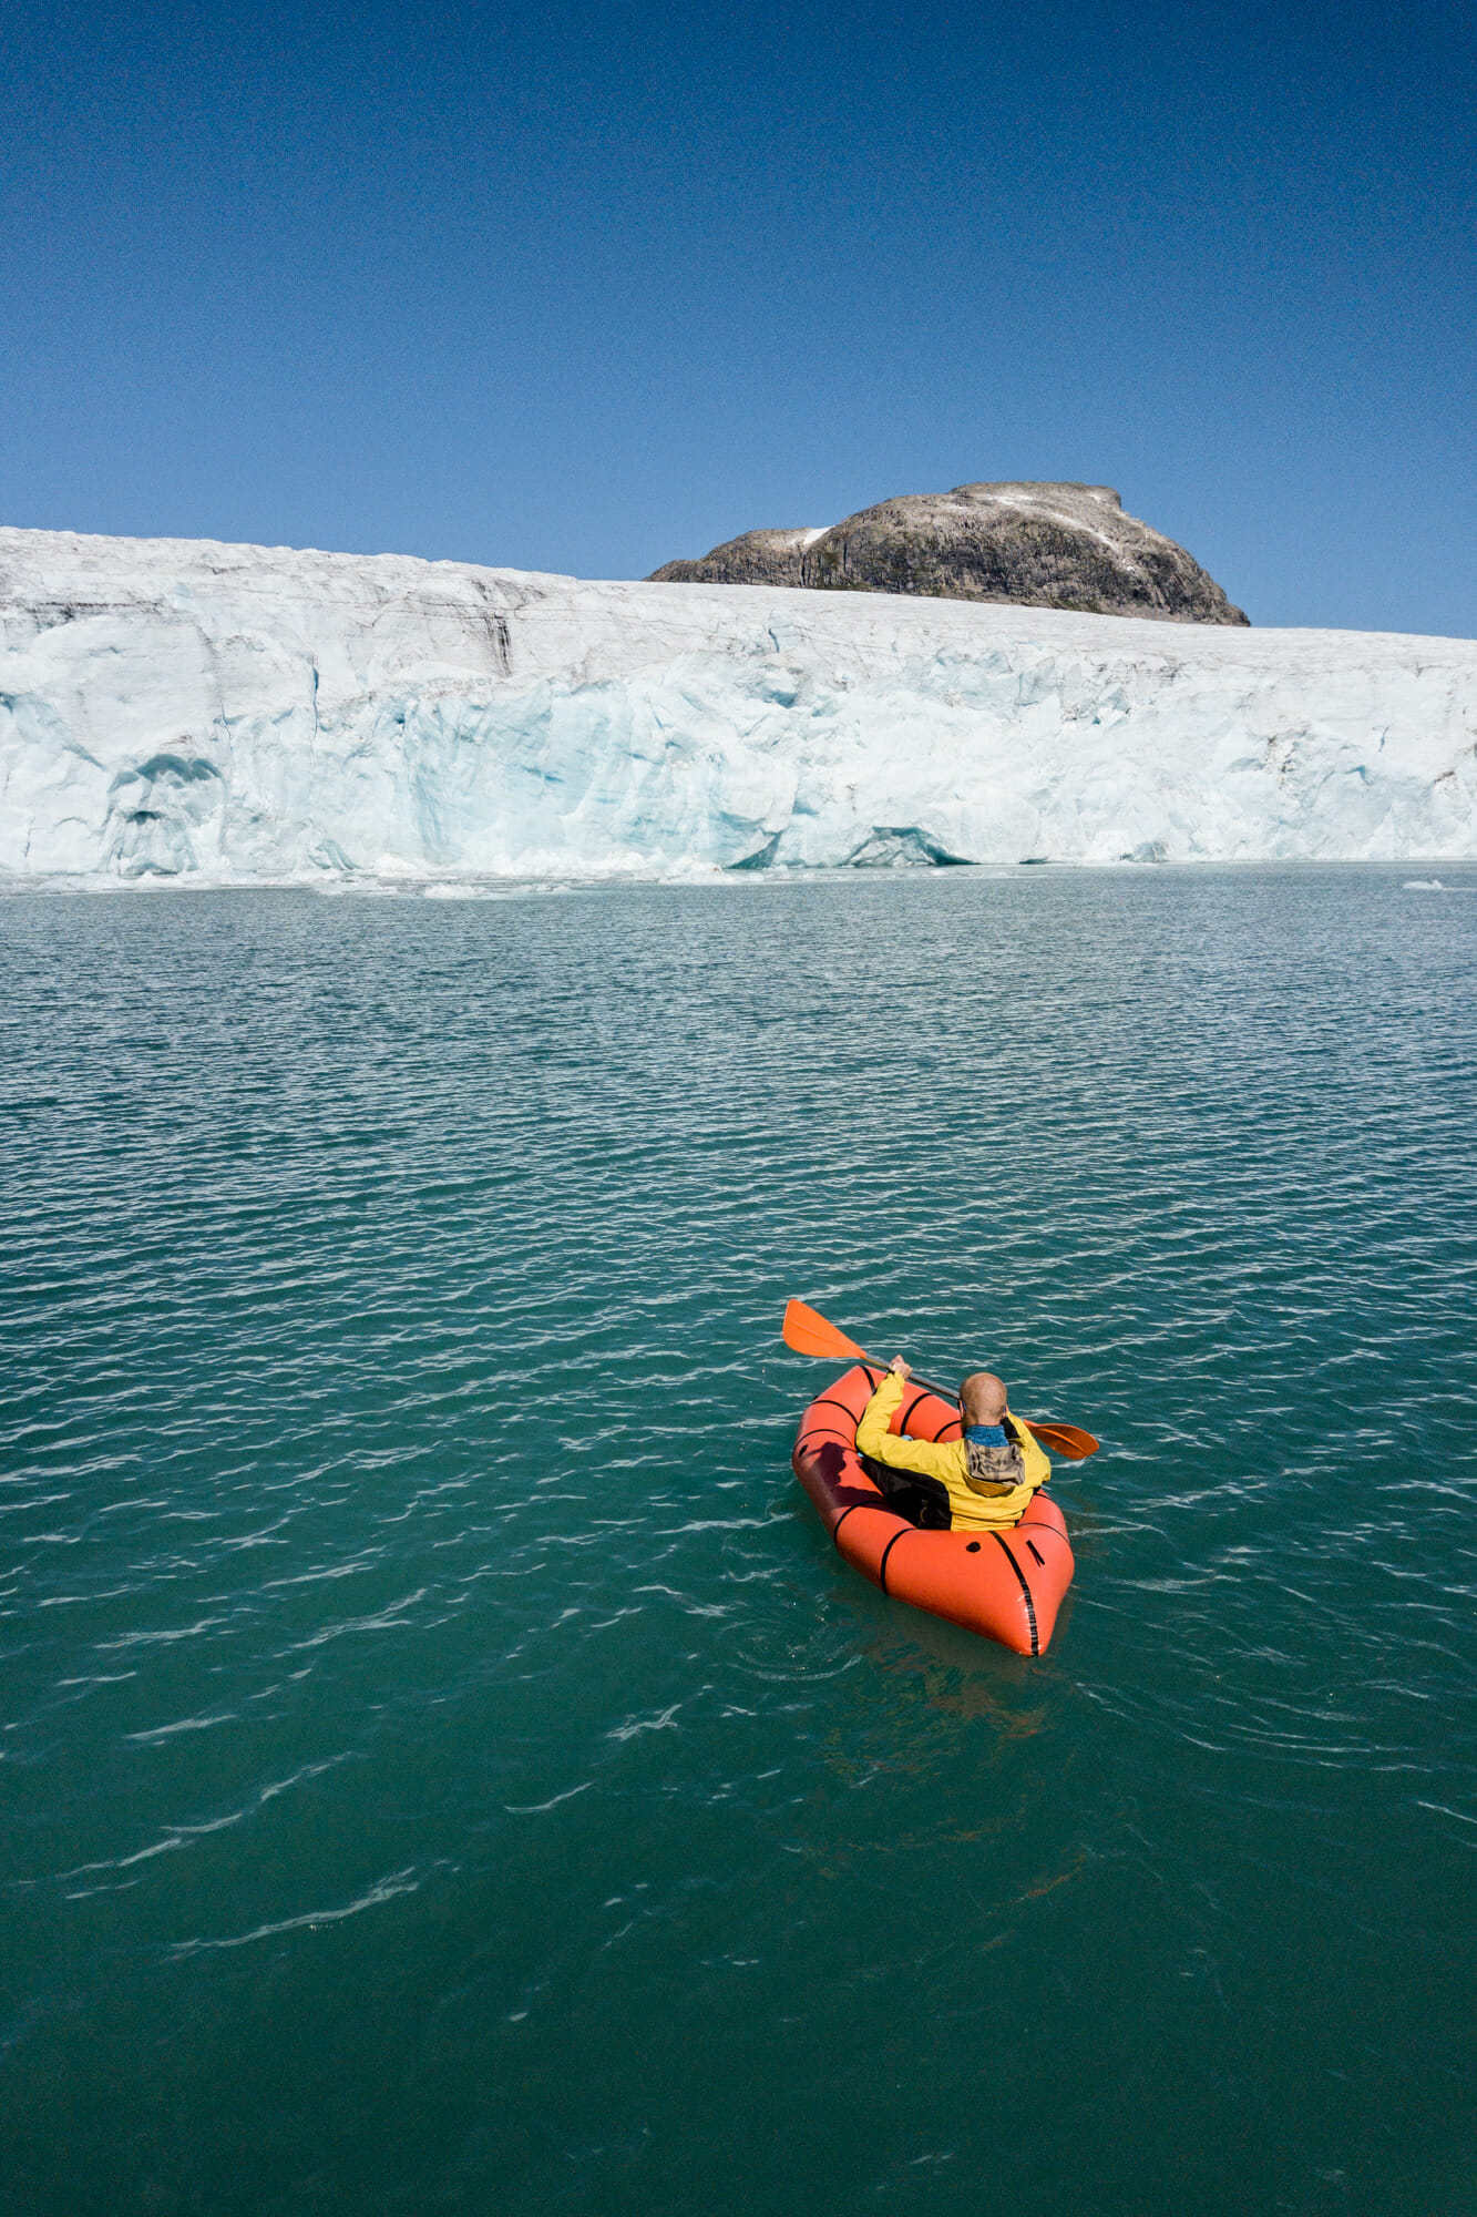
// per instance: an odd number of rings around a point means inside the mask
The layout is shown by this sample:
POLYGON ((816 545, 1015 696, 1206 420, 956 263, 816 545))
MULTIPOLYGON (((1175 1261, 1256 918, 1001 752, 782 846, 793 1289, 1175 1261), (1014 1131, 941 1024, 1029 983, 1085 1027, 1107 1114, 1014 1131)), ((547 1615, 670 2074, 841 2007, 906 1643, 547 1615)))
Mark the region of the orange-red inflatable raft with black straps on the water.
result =
MULTIPOLYGON (((821 1510, 841 1554, 865 1579, 916 1610, 982 1632, 1018 1656, 1047 1652, 1071 1585, 1067 1519, 1045 1492, 1002 1532, 925 1532, 889 1508, 856 1452, 856 1426, 885 1372, 854 1363, 809 1403, 794 1443, 794 1474, 821 1510)), ((920 1388, 903 1399, 892 1432, 958 1439, 958 1408, 920 1388)), ((878 1468, 878 1465, 872 1465, 878 1468)), ((898 1472, 907 1499, 907 1472, 898 1472)))

